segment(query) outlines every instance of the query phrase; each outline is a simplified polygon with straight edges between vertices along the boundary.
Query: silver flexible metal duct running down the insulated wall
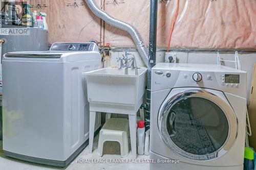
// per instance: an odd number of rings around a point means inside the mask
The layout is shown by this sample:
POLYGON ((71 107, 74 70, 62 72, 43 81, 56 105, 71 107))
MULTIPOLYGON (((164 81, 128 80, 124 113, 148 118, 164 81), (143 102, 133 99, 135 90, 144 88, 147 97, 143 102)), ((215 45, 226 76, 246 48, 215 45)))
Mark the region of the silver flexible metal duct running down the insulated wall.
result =
POLYGON ((136 47, 139 51, 140 56, 142 57, 143 62, 145 63, 146 66, 148 66, 148 50, 144 45, 144 42, 137 31, 137 29, 131 25, 129 25, 126 22, 123 22, 121 20, 118 20, 112 16, 110 16, 108 13, 105 11, 101 10, 99 6, 95 3, 94 0, 84 0, 89 8, 92 10, 92 12, 98 16, 99 18, 103 19, 105 22, 109 23, 110 25, 117 27, 121 30, 126 31, 129 33, 133 40, 134 43, 136 44, 136 47))

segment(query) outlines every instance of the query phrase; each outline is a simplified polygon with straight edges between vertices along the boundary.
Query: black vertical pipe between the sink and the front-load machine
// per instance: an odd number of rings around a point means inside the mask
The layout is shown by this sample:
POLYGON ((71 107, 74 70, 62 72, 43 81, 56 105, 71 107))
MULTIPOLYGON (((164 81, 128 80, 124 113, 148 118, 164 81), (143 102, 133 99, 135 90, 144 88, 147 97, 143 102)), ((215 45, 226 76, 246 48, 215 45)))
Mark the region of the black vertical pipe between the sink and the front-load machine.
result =
POLYGON ((148 69, 147 69, 147 94, 146 94, 146 113, 145 126, 146 129, 150 126, 151 113, 151 75, 152 67, 156 65, 156 51, 157 51, 157 6, 158 0, 150 1, 150 42, 148 46, 148 69))

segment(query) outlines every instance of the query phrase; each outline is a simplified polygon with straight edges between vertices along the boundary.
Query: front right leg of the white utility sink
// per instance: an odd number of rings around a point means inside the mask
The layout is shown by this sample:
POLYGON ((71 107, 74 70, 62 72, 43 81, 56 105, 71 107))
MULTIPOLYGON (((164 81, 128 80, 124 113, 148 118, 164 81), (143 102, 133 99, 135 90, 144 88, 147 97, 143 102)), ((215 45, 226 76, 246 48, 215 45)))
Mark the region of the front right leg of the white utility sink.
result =
POLYGON ((130 127, 130 136, 131 136, 131 148, 132 148, 132 159, 137 157, 137 125, 136 125, 136 114, 129 114, 129 127, 130 127))

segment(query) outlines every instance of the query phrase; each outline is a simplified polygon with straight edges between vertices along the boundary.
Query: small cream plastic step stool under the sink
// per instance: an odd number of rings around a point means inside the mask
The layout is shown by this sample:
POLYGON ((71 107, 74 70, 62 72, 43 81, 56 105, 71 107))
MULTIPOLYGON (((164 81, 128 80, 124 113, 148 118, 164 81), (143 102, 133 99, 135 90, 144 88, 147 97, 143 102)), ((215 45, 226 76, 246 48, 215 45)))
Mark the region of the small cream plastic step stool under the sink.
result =
POLYGON ((120 143, 121 157, 129 155, 128 147, 129 120, 126 118, 110 118, 106 120, 99 132, 98 155, 102 156, 105 141, 120 143))

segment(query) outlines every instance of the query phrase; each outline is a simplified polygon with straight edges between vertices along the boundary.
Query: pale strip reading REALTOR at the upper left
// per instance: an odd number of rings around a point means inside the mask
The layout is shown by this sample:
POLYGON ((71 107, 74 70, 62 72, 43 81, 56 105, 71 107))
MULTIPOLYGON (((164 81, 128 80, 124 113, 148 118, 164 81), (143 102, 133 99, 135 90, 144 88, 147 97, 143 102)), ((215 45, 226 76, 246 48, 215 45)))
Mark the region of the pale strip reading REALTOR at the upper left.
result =
POLYGON ((29 28, 0 28, 0 35, 30 35, 29 28))

